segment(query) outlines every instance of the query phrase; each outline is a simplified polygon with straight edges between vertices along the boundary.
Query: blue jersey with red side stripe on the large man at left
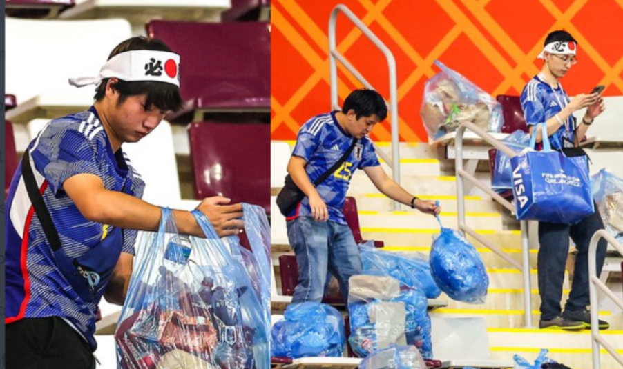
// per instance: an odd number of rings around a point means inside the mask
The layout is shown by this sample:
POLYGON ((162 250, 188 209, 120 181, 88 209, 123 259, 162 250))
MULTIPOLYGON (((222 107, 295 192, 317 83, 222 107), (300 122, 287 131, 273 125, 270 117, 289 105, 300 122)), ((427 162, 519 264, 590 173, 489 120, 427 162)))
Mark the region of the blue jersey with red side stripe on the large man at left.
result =
POLYGON ((134 254, 137 231, 88 221, 63 183, 76 174, 93 174, 107 190, 140 198, 144 182, 122 150, 113 153, 93 107, 50 121, 27 150, 61 249, 52 250, 46 238, 26 192, 20 163, 6 200, 5 323, 61 317, 95 350, 97 304, 121 252, 134 254), (85 271, 96 273, 99 282, 88 283, 85 271))

